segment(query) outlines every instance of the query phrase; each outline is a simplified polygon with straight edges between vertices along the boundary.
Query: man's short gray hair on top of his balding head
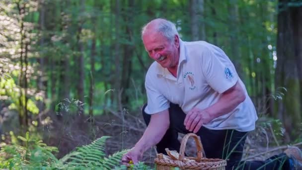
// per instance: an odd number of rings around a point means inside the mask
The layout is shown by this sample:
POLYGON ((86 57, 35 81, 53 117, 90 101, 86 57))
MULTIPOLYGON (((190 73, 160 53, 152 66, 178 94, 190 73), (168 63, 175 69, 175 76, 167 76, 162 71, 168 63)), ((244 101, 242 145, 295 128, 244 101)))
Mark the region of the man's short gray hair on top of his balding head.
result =
POLYGON ((178 35, 178 31, 174 23, 169 20, 157 18, 151 20, 149 23, 144 25, 142 28, 142 39, 143 35, 146 33, 146 30, 151 27, 151 25, 155 25, 155 31, 161 33, 164 37, 166 37, 169 41, 174 40, 174 36, 178 35))

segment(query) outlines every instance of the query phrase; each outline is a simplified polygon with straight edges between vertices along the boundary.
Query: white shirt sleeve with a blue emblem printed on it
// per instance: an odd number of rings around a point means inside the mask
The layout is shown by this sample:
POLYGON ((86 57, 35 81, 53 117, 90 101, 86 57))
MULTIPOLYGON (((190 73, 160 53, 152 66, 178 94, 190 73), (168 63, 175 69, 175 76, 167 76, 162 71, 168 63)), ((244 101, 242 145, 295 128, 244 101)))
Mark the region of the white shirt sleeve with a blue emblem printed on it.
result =
POLYGON ((238 81, 234 65, 222 50, 206 49, 202 54, 201 67, 207 83, 219 93, 225 92, 238 81))

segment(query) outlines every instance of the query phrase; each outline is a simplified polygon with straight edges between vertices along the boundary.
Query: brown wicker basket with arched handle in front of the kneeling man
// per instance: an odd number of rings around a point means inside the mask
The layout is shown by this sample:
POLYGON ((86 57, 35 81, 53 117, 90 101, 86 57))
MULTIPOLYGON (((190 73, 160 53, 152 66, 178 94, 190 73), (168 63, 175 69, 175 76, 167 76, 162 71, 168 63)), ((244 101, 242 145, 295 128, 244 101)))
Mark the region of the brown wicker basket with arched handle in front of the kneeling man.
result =
POLYGON ((162 154, 157 154, 154 159, 156 170, 171 170, 178 167, 181 170, 226 170, 227 161, 222 159, 203 158, 203 147, 199 136, 189 133, 181 141, 178 160, 163 159, 162 154), (197 157, 185 157, 185 147, 189 137, 193 137, 197 146, 197 157), (187 161, 187 160, 195 161, 187 161))

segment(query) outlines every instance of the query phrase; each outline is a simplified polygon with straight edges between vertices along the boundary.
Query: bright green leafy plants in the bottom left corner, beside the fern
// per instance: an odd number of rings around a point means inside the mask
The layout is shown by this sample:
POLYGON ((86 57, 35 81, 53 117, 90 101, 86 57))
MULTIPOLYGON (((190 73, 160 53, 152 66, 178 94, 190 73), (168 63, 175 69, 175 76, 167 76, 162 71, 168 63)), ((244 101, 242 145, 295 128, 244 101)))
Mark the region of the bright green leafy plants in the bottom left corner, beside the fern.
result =
POLYGON ((49 147, 41 140, 31 138, 29 132, 25 137, 15 137, 10 132, 11 144, 1 143, 0 168, 14 170, 46 169, 58 162, 52 152, 56 147, 49 147))

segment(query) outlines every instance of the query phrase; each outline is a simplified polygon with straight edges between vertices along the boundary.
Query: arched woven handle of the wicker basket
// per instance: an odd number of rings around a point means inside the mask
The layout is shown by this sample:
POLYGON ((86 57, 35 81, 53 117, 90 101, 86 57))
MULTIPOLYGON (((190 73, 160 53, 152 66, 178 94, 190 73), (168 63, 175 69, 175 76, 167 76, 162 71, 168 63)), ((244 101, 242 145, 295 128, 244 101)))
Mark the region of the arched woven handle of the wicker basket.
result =
POLYGON ((183 138, 182 138, 182 141, 181 141, 181 145, 180 145, 180 151, 179 151, 179 158, 178 160, 179 161, 184 161, 184 158, 185 158, 185 148, 186 148, 186 145, 187 145, 187 141, 189 139, 189 137, 193 137, 194 140, 195 140, 195 143, 196 143, 196 147, 197 147, 197 162, 200 162, 200 160, 203 158, 203 151, 204 151, 204 148, 201 144, 201 140, 200 140, 200 137, 195 135, 194 133, 188 133, 186 134, 183 138))

